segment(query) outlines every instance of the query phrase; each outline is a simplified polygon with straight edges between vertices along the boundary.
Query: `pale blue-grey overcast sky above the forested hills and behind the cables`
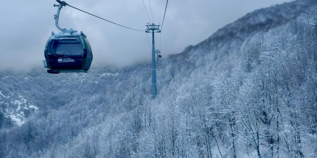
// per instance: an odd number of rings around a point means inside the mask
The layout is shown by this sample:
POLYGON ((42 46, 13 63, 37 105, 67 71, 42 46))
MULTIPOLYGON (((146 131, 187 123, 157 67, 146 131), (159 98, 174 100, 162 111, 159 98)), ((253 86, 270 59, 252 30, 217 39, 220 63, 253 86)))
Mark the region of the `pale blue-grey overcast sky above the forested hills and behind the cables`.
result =
MULTIPOLYGON (((153 22, 148 0, 143 0, 153 22)), ((161 54, 180 53, 217 29, 255 9, 290 0, 170 0, 162 32, 156 34, 161 54), (161 40, 160 40, 161 37, 161 40), (161 44, 160 44, 161 42, 161 44)), ((134 29, 145 30, 149 18, 142 0, 66 0, 69 5, 134 29)), ((166 0, 150 0, 155 24, 162 24, 166 0)), ((55 0, 0 0, 0 71, 41 67, 44 47, 54 31, 55 0)), ((87 35, 93 64, 119 68, 151 61, 145 32, 134 31, 71 7, 63 7, 59 25, 87 35)), ((148 34, 152 45, 152 34, 148 34)), ((45 68, 43 68, 45 69, 45 68)))

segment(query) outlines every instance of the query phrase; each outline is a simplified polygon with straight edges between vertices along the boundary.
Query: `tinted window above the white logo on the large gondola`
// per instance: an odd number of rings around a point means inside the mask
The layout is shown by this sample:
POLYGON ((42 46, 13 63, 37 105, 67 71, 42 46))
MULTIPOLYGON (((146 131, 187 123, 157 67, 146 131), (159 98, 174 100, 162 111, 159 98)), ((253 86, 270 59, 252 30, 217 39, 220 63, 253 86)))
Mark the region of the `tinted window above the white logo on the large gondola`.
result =
POLYGON ((81 43, 61 43, 58 42, 56 46, 56 50, 54 51, 56 54, 63 55, 82 55, 82 45, 81 43))

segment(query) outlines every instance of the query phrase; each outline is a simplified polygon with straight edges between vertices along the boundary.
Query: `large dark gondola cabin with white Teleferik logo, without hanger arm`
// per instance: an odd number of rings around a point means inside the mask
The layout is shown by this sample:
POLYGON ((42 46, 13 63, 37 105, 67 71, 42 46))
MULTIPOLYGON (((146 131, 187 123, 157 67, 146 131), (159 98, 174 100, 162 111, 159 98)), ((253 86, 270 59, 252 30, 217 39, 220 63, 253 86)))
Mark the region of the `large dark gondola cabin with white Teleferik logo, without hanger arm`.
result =
POLYGON ((93 60, 84 33, 53 33, 46 43, 43 66, 48 73, 87 72, 93 60))

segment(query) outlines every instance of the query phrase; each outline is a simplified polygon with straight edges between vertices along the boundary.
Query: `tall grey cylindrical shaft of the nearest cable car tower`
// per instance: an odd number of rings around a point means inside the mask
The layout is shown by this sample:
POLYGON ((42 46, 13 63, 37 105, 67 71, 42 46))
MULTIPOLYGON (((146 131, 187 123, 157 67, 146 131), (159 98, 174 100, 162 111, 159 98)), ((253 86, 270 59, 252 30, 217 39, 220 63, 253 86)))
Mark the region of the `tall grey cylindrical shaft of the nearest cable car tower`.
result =
POLYGON ((152 93, 151 98, 155 99, 158 96, 156 83, 156 67, 155 67, 155 44, 154 44, 154 30, 152 30, 152 93))

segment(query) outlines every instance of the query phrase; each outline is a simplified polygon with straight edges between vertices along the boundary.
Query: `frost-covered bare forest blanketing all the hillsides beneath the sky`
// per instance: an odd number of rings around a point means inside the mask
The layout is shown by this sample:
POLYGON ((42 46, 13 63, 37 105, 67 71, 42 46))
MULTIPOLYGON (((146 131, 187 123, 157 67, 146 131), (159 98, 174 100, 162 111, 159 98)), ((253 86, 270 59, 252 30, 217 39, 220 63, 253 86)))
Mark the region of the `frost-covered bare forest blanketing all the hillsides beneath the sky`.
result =
POLYGON ((317 157, 317 1, 255 10, 150 64, 0 75, 0 157, 317 157))

